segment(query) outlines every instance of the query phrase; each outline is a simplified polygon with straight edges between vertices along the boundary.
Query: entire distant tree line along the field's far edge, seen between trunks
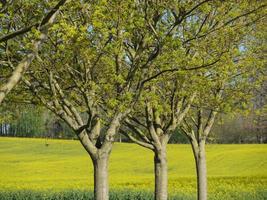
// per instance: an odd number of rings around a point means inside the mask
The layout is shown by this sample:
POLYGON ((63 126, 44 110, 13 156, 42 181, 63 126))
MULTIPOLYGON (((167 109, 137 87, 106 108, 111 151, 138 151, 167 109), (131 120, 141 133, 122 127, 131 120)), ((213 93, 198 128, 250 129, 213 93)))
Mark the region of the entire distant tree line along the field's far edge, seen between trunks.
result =
MULTIPOLYGON (((0 120, 0 136, 76 139, 65 122, 41 107, 19 106, 13 111, 10 108, 4 109, 4 112, 6 115, 0 120)), ((221 120, 215 124, 208 142, 267 143, 266 125, 263 116, 257 112, 252 112, 248 116, 222 115, 221 120)), ((118 135, 116 140, 130 142, 124 135, 118 135)), ((170 143, 188 143, 188 139, 177 130, 170 143)))

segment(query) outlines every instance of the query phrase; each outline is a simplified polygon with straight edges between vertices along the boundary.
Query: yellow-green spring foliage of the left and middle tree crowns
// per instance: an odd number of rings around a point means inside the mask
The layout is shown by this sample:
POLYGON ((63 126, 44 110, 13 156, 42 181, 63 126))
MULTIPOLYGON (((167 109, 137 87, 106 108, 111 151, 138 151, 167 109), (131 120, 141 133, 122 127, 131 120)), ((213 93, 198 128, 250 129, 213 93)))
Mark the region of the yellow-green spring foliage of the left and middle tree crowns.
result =
MULTIPOLYGON (((189 11, 197 3, 189 1, 177 4, 176 1, 169 1, 147 5, 145 2, 131 1, 69 2, 63 9, 63 16, 50 29, 50 40, 40 52, 42 60, 34 63, 33 74, 44 83, 47 83, 47 70, 56 77, 64 74, 64 78, 57 81, 65 88, 71 88, 64 91, 71 101, 82 99, 82 92, 90 93, 90 98, 101 107, 106 107, 110 115, 113 111, 129 107, 137 92, 134 88, 140 84, 138 80, 165 69, 177 68, 179 75, 164 74, 158 77, 159 85, 167 85, 168 82, 172 85, 173 79, 179 79, 179 85, 184 80, 191 80, 184 82, 187 87, 183 88, 180 96, 191 94, 205 84, 199 84, 196 73, 183 70, 220 59, 221 64, 229 64, 226 71, 234 72, 230 67, 235 57, 233 52, 251 29, 244 24, 253 21, 262 12, 259 9, 255 14, 245 15, 252 9, 246 6, 248 1, 238 5, 232 1, 215 1, 204 3, 192 10, 191 15, 183 16, 183 12, 189 11), (242 17, 239 19, 240 15, 242 17), (177 16, 183 16, 184 19, 170 31, 170 27, 177 23, 177 16), (203 20, 206 20, 205 23, 203 20), (149 60, 153 56, 153 60, 149 60), (129 72, 134 66, 138 66, 138 70, 129 80, 129 72), (194 87, 191 87, 192 83, 194 87), (131 88, 122 91, 128 86, 131 88)), ((34 6, 28 4, 25 9, 34 6)), ((51 4, 39 2, 38 6, 45 9, 51 4)), ((255 1, 250 5, 257 8, 261 3, 255 1)), ((37 33, 32 31, 31 34, 37 33)), ((30 41, 31 37, 24 37, 24 40, 30 41)), ((18 48, 12 48, 14 54, 19 52, 18 48)), ((162 94, 169 89, 160 89, 162 91, 159 94, 157 89, 157 92, 147 91, 144 96, 153 98, 151 101, 157 104, 155 106, 168 112, 170 106, 160 105, 160 102, 162 94)), ((40 93, 47 98, 51 95, 45 90, 40 93)), ((209 91, 206 93, 209 94, 209 91)), ((79 103, 79 109, 85 111, 85 105, 79 103)))

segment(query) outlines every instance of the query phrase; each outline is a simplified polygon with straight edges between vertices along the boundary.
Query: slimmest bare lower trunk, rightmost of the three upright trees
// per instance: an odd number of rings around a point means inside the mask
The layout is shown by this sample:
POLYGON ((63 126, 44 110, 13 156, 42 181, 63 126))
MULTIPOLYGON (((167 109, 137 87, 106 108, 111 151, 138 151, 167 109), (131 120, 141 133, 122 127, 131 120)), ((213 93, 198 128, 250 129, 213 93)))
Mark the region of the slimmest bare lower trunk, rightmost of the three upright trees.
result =
POLYGON ((196 165, 198 200, 207 200, 207 164, 204 140, 201 140, 199 142, 198 158, 196 165))

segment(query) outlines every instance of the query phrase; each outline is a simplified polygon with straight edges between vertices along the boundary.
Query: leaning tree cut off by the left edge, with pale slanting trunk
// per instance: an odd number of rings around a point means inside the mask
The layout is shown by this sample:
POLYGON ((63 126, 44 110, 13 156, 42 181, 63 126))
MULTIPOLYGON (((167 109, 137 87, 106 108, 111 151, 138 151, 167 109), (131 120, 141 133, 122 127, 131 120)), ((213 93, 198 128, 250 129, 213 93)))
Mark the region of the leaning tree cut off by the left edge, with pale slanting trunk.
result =
MULTIPOLYGON (((38 55, 38 51, 40 50, 41 44, 44 42, 44 40, 47 37, 47 32, 48 28, 54 23, 56 15, 59 11, 59 8, 66 3, 66 0, 61 0, 57 3, 56 6, 54 6, 51 11, 49 11, 45 16, 43 16, 42 19, 40 19, 40 13, 39 16, 31 16, 31 17, 39 17, 40 22, 36 22, 34 24, 31 24, 30 26, 26 26, 23 28, 20 28, 24 22, 24 18, 21 18, 21 13, 23 13, 22 17, 27 15, 28 12, 27 10, 25 11, 23 9, 23 6, 21 5, 21 2, 13 2, 13 1, 2 1, 1 2, 1 11, 0 11, 0 16, 1 16, 1 32, 5 33, 4 35, 0 36, 0 42, 3 43, 1 45, 0 49, 0 58, 1 58, 1 65, 8 65, 9 67, 12 67, 12 75, 9 76, 8 80, 4 78, 3 83, 0 85, 0 105, 3 102, 4 98, 6 95, 16 86, 16 84, 20 81, 22 75, 25 73, 25 71, 28 69, 30 66, 31 62, 35 59, 35 57, 38 55), (22 8, 21 8, 21 7, 22 8), (18 13, 16 13, 18 12, 18 13), (13 19, 12 19, 13 18, 13 19), (20 19, 22 23, 16 23, 14 24, 13 20, 20 19), (17 25, 17 23, 19 25, 17 25), (31 43, 31 50, 29 50, 26 54, 20 55, 22 58, 20 59, 19 62, 17 62, 16 66, 12 65, 12 62, 10 57, 12 57, 10 54, 10 48, 14 44, 10 44, 9 40, 12 38, 15 38, 16 36, 20 36, 22 34, 25 34, 29 31, 31 31, 33 28, 36 29, 36 31, 40 31, 40 34, 36 39, 33 40, 31 43), (13 31, 13 32, 12 32, 13 31), (11 32, 11 33, 10 33, 11 32), (3 54, 3 55, 2 55, 3 54)), ((38 4, 39 5, 39 4, 38 4)), ((32 6, 32 5, 27 5, 26 4, 26 9, 27 6, 32 6)), ((45 7, 42 7, 44 10, 43 13, 45 13, 45 7)), ((29 12, 31 13, 31 12, 29 12)), ((28 16, 27 16, 28 17, 28 16)), ((36 19, 35 19, 36 20, 36 19)), ((25 49, 24 49, 25 50, 25 49)), ((17 54, 20 54, 22 49, 16 49, 15 50, 17 54)), ((18 56, 18 55, 16 55, 18 56)), ((2 67, 1 67, 2 68, 2 67)), ((1 69, 2 70, 2 69, 1 69)), ((1 81, 2 82, 2 81, 1 81)))

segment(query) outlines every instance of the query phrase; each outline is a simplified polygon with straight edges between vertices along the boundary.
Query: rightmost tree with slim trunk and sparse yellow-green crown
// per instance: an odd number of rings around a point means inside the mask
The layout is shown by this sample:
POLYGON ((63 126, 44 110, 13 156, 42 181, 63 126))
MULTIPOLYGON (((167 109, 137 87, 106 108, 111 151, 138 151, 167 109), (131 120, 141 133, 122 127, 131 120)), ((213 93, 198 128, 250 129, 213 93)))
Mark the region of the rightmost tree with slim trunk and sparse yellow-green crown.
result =
POLYGON ((218 113, 250 112, 255 90, 264 80, 262 72, 266 63, 257 56, 263 52, 255 48, 255 41, 259 39, 255 33, 263 31, 262 23, 263 19, 254 23, 245 37, 228 47, 229 52, 221 63, 217 63, 217 67, 200 71, 203 79, 194 109, 184 118, 181 126, 190 140, 195 158, 199 200, 207 199, 205 146, 216 116, 218 113))

